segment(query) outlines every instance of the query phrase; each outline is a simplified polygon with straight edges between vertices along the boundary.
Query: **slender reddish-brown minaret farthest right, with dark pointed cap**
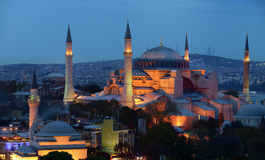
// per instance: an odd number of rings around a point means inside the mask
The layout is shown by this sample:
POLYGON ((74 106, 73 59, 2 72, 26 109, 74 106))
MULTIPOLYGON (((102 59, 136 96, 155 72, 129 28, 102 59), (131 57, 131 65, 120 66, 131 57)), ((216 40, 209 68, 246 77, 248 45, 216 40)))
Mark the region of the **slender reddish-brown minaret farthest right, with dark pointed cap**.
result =
POLYGON ((243 75, 243 95, 245 95, 246 101, 250 101, 249 96, 249 41, 248 41, 248 31, 246 35, 246 44, 245 44, 245 58, 243 61, 244 64, 244 75, 243 75))

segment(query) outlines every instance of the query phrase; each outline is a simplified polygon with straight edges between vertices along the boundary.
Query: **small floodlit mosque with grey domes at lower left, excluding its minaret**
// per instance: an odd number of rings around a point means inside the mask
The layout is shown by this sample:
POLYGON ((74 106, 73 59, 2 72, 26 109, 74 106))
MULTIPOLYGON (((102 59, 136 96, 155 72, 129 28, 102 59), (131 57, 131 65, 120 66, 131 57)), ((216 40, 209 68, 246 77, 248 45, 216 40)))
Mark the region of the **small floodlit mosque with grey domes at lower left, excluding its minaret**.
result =
POLYGON ((37 134, 30 139, 30 146, 19 146, 13 153, 13 159, 37 160, 51 151, 65 151, 73 156, 73 159, 87 157, 85 140, 81 139, 72 126, 63 121, 52 121, 44 125, 37 134))

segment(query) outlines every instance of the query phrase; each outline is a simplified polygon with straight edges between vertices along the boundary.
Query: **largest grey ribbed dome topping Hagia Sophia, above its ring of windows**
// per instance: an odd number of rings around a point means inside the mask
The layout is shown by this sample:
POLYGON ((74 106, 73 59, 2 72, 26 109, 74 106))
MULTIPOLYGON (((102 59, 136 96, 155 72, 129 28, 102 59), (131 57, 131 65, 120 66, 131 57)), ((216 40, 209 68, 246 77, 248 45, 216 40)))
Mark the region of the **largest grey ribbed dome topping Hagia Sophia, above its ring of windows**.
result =
POLYGON ((180 54, 173 49, 159 46, 149 49, 139 59, 183 59, 180 54))

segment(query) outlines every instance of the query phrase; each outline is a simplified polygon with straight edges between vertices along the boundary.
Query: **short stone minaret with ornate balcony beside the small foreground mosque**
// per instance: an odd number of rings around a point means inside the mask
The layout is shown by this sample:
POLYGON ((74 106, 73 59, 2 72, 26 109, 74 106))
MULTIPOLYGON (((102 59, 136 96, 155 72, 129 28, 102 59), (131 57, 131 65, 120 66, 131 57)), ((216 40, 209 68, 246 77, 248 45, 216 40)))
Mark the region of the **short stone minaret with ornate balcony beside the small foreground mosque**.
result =
POLYGON ((38 86, 35 75, 35 68, 33 72, 31 88, 30 88, 30 98, 29 103, 29 142, 33 140, 33 134, 38 133, 38 119, 39 119, 39 103, 40 99, 38 97, 38 86))

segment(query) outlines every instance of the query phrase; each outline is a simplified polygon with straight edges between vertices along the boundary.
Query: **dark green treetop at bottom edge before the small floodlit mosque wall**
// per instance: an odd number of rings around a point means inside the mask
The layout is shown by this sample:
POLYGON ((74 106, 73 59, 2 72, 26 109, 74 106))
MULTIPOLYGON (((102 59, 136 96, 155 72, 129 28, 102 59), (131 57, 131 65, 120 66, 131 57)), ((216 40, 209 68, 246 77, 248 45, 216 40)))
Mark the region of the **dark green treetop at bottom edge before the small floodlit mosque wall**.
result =
POLYGON ((44 156, 39 156, 38 160, 74 160, 73 156, 64 151, 52 151, 44 156))

